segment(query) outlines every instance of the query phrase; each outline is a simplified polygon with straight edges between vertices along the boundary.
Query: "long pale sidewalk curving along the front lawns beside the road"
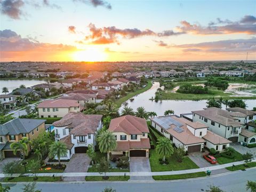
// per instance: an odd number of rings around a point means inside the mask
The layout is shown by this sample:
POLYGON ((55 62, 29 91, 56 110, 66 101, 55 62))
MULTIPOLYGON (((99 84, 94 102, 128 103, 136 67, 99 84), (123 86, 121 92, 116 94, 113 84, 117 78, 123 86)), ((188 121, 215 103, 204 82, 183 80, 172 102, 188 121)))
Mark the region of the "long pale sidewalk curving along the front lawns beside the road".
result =
MULTIPOLYGON (((253 159, 252 162, 256 162, 256 159, 253 159)), ((196 172, 206 172, 207 170, 219 170, 226 167, 230 167, 232 165, 241 165, 244 164, 244 161, 227 163, 222 165, 210 166, 210 167, 203 167, 198 169, 190 169, 190 170, 180 170, 180 171, 163 171, 163 172, 126 172, 128 176, 154 176, 154 175, 175 175, 175 174, 186 174, 186 173, 196 173, 196 172)), ((37 173, 37 176, 50 176, 55 175, 55 177, 85 177, 85 176, 102 176, 102 174, 98 172, 82 172, 82 173, 37 173)), ((32 173, 25 173, 25 174, 13 174, 12 177, 19 177, 19 175, 25 175, 28 177, 34 177, 32 173)), ((106 175, 108 176, 122 176, 124 172, 108 172, 106 175)), ((0 174, 0 178, 3 177, 10 177, 9 174, 0 174)))

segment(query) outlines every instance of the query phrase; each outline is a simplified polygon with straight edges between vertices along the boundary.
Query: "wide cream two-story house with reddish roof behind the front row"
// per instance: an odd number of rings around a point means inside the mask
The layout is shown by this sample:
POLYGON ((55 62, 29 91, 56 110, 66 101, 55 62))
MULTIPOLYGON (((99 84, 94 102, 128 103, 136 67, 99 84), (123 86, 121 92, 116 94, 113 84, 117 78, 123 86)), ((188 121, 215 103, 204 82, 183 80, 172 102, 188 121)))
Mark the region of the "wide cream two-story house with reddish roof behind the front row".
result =
POLYGON ((83 106, 76 100, 55 99, 45 100, 37 106, 38 115, 44 117, 64 117, 70 112, 79 112, 83 110, 83 106))

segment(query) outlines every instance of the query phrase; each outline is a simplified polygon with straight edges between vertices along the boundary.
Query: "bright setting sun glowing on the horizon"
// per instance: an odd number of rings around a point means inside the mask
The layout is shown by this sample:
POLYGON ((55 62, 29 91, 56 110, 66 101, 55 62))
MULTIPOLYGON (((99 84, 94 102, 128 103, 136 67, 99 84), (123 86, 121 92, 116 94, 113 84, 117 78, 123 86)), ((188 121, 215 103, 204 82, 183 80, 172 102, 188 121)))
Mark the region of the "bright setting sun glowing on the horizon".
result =
POLYGON ((98 49, 77 51, 73 54, 74 61, 105 61, 107 54, 98 49))

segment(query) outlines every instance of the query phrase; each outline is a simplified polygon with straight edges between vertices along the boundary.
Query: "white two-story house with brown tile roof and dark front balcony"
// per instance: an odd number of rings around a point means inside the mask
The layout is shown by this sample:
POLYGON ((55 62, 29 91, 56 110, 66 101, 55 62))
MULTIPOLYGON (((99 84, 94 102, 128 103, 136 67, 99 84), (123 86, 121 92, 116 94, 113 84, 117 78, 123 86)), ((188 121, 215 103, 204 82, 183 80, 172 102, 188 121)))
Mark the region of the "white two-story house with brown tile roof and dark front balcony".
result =
POLYGON ((101 129, 102 115, 68 113, 60 121, 53 123, 55 141, 67 146, 67 154, 61 159, 70 159, 75 153, 86 153, 88 145, 96 145, 97 131, 101 129))

